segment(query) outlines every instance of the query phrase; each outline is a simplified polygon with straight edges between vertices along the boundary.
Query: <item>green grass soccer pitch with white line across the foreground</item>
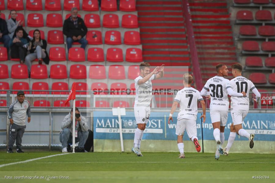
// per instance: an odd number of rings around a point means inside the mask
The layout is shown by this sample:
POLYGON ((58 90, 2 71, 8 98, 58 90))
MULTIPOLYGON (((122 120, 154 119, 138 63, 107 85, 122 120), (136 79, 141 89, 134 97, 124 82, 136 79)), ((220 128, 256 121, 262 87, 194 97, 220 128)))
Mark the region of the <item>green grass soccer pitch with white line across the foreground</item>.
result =
POLYGON ((0 152, 0 182, 275 182, 274 154, 229 154, 218 161, 214 153, 185 153, 184 159, 174 152, 143 152, 143 157, 129 152, 51 156, 56 154, 61 153, 0 152), (51 157, 39 159, 45 156, 51 157), (8 164, 14 162, 20 163, 8 164))

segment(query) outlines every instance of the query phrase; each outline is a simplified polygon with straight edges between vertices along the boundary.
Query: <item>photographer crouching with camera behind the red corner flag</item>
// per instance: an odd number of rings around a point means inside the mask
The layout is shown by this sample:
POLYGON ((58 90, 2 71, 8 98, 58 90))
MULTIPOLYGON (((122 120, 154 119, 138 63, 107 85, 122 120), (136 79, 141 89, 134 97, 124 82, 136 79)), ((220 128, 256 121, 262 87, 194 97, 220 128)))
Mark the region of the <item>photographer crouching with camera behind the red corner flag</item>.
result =
MULTIPOLYGON (((64 120, 61 123, 61 129, 59 140, 62 143, 62 152, 68 152, 67 146, 68 143, 72 143, 72 109, 70 113, 65 116, 64 120)), ((85 152, 84 145, 88 138, 88 125, 85 117, 81 116, 78 108, 76 107, 76 141, 79 142, 76 152, 85 152)))

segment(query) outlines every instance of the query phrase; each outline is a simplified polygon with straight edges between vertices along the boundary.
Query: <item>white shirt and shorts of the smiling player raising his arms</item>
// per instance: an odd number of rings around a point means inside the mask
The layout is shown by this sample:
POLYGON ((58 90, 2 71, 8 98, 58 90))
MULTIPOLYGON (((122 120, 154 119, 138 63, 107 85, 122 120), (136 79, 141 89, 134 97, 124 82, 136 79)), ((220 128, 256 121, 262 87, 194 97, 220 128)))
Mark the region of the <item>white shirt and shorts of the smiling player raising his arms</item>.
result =
POLYGON ((135 79, 136 98, 134 104, 134 113, 137 124, 147 124, 150 117, 150 104, 152 99, 152 80, 156 78, 153 74, 148 81, 138 84, 143 77, 139 76, 135 79))

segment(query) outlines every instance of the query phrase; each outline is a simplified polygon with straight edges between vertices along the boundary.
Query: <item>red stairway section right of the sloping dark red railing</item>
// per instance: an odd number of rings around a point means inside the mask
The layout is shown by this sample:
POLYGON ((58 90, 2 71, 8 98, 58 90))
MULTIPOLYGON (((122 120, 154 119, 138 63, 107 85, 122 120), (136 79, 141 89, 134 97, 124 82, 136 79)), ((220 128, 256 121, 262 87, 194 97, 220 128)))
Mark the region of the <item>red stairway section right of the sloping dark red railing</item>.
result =
MULTIPOLYGON (((215 66, 236 63, 236 52, 225 0, 189 0, 203 83, 216 75, 215 66)), ((229 74, 229 79, 232 74, 229 74)))

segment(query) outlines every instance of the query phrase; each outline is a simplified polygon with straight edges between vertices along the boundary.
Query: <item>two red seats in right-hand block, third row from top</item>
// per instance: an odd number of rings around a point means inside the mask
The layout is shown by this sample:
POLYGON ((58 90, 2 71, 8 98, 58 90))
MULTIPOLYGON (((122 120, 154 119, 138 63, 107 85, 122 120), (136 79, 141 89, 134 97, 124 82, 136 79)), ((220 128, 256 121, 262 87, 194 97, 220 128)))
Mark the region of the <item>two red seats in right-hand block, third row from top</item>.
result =
MULTIPOLYGON (((275 36, 274 26, 265 25, 258 28, 258 34, 261 36, 275 36)), ((240 35, 256 36, 256 27, 253 25, 243 25, 240 27, 240 35)))

